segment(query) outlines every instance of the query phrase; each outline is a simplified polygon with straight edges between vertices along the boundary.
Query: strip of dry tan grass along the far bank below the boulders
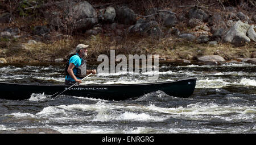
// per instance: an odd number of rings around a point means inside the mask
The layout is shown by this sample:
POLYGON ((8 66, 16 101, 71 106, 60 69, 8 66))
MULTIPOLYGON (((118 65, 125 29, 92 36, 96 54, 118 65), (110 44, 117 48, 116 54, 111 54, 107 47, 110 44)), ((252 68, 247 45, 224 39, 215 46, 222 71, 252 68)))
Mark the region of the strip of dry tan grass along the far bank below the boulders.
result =
POLYGON ((115 55, 159 55, 160 60, 194 60, 199 56, 220 55, 226 60, 238 57, 250 57, 255 51, 256 43, 249 43, 243 47, 234 47, 230 43, 217 45, 197 44, 187 42, 176 37, 152 39, 151 37, 127 36, 126 39, 97 35, 95 37, 69 38, 46 43, 11 43, 9 48, 0 49, 1 57, 7 62, 53 62, 55 59, 67 58, 75 52, 77 44, 89 44, 88 61, 97 61, 101 54, 110 56, 110 50, 115 50, 115 55))

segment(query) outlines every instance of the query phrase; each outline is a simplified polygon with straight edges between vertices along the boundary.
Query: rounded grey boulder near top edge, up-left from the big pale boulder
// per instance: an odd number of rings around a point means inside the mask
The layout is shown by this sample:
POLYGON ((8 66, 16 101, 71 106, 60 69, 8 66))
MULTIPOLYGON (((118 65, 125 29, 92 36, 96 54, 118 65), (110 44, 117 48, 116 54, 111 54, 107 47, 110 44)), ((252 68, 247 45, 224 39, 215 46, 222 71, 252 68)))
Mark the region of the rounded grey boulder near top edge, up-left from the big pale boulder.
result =
POLYGON ((203 20, 206 22, 209 18, 209 15, 207 13, 205 13, 203 10, 195 7, 193 9, 189 10, 188 17, 189 17, 189 19, 196 18, 196 19, 203 20))

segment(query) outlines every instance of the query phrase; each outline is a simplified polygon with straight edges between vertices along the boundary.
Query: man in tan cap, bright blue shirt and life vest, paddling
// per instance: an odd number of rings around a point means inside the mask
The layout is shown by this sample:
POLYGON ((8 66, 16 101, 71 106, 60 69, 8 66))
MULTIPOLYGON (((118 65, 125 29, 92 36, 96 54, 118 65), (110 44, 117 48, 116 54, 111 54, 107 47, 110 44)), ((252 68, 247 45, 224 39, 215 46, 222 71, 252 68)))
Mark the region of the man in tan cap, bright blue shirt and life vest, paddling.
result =
POLYGON ((76 82, 81 83, 82 78, 92 73, 96 74, 96 69, 87 70, 86 61, 82 58, 87 55, 89 45, 79 44, 76 47, 76 53, 69 56, 65 67, 65 85, 73 85, 76 82))

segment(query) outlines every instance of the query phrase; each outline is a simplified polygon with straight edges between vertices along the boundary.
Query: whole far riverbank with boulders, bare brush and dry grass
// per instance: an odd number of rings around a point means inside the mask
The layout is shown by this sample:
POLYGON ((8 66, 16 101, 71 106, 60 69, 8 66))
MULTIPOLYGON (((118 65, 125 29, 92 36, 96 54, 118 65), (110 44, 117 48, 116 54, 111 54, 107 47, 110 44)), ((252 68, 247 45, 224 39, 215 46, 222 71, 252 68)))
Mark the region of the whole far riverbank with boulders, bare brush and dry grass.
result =
MULTIPOLYGON (((256 64, 254 1, 0 1, 0 63, 65 63, 101 54, 159 64, 256 64)), ((118 61, 115 63, 119 63, 118 61)))

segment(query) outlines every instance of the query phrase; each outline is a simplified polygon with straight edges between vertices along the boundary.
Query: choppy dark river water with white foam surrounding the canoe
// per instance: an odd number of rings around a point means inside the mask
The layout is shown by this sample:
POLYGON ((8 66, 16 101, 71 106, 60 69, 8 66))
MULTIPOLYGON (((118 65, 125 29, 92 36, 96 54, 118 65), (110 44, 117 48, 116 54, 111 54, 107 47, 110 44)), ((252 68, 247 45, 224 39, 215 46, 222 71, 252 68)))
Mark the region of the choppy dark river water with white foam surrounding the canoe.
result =
MULTIPOLYGON (((97 68, 97 65, 90 65, 97 68)), ((63 64, 2 65, 1 82, 63 84, 63 64)), ((256 133, 256 65, 160 65, 159 72, 101 73, 84 84, 133 84, 197 77, 189 98, 152 92, 135 100, 111 101, 76 96, 28 100, 0 99, 0 132, 35 129, 61 133, 256 133)), ((18 95, 18 94, 17 94, 18 95)))

